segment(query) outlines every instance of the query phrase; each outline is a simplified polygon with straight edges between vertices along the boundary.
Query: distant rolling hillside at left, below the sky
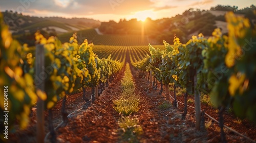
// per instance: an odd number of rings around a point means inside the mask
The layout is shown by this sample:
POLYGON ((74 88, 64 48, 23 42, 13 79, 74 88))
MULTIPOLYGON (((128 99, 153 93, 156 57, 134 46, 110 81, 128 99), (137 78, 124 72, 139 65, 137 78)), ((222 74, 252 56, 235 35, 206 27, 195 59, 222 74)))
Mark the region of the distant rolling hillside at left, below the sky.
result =
POLYGON ((2 12, 4 20, 14 35, 33 33, 36 30, 55 32, 56 34, 83 29, 97 28, 100 21, 88 18, 62 18, 62 17, 33 17, 21 13, 2 12))

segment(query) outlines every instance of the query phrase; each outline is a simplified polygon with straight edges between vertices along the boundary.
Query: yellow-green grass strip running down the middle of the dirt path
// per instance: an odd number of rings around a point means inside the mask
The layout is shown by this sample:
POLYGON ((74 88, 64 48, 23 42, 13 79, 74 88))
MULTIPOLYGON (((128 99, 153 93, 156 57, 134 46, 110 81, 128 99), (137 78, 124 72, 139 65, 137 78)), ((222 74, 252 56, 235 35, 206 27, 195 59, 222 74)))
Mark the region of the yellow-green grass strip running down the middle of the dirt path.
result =
POLYGON ((132 113, 139 111, 139 99, 134 93, 135 86, 129 63, 125 67, 121 89, 121 97, 114 101, 114 109, 122 114, 122 117, 118 120, 121 132, 120 142, 139 142, 143 130, 139 125, 137 116, 131 116, 132 113))

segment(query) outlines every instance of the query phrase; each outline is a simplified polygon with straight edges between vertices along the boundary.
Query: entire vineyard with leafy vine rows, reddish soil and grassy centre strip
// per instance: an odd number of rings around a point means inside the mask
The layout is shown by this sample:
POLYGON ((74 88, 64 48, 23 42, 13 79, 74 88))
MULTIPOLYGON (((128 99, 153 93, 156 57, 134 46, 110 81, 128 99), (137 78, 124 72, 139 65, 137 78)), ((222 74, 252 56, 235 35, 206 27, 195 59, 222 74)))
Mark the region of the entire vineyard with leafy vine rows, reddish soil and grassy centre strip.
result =
POLYGON ((226 20, 185 44, 90 29, 28 47, 0 15, 1 140, 255 142, 256 27, 226 20))

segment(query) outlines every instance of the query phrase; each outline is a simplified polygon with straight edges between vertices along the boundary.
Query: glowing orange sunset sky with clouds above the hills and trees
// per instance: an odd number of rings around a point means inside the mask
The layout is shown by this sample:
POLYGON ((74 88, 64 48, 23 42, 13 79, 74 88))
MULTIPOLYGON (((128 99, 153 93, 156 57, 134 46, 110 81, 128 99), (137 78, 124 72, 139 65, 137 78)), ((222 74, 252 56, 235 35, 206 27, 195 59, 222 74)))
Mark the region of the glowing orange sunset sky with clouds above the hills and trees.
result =
POLYGON ((189 8, 208 10, 217 5, 255 5, 255 0, 1 0, 0 10, 41 17, 85 17, 100 21, 146 17, 159 19, 182 14, 189 8))

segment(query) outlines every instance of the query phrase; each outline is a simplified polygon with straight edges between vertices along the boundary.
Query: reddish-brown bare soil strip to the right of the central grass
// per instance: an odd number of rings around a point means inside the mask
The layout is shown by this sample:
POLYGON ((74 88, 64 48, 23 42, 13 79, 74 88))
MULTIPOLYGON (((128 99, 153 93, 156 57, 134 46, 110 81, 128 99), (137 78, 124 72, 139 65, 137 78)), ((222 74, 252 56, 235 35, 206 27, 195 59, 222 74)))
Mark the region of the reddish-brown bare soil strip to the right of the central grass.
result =
POLYGON ((138 112, 144 131, 141 142, 206 142, 206 133, 182 121, 178 109, 159 109, 165 102, 164 97, 152 90, 144 78, 135 75, 134 79, 141 101, 138 112))

